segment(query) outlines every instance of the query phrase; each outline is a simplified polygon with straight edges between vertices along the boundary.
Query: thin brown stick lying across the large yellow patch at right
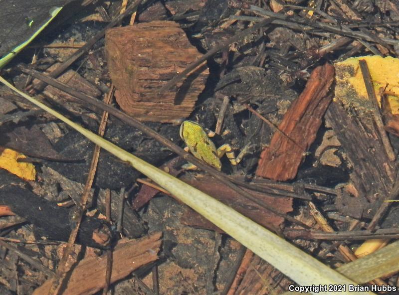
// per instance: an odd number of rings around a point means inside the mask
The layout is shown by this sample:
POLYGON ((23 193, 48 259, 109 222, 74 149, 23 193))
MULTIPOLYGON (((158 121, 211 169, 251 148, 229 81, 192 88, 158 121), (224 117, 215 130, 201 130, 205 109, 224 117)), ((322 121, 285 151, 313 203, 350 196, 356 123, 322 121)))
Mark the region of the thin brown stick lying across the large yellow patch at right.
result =
POLYGON ((391 161, 394 161, 396 159, 395 152, 391 146, 390 140, 387 136, 387 132, 384 129, 384 122, 381 117, 378 99, 376 96, 376 92, 374 91, 373 81, 371 80, 371 75, 370 75, 369 67, 367 66, 366 60, 364 60, 364 59, 359 60, 359 66, 362 71, 363 80, 365 82, 365 86, 366 86, 366 90, 367 90, 367 95, 369 96, 369 99, 373 104, 374 120, 376 122, 377 129, 380 133, 381 140, 383 142, 385 151, 387 152, 388 158, 391 161))

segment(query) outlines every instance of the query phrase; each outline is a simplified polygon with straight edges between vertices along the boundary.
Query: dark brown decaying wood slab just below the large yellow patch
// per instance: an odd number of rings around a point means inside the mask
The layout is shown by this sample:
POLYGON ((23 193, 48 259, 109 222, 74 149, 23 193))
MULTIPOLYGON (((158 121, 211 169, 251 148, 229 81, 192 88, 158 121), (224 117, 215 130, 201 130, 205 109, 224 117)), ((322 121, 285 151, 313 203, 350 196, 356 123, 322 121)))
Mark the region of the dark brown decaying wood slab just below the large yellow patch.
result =
POLYGON ((396 174, 377 128, 368 118, 350 116, 339 102, 330 105, 326 120, 353 167, 350 176, 359 195, 355 198, 343 192, 336 205, 343 214, 372 218, 383 197, 391 192, 396 174))

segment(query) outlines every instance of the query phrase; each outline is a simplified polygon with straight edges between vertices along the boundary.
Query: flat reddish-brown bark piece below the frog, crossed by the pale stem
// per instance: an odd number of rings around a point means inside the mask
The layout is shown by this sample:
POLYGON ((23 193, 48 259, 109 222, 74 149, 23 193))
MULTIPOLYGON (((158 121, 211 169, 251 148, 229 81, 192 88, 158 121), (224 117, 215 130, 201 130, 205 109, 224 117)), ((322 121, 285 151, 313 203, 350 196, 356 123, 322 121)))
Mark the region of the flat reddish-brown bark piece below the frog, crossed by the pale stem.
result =
MULTIPOLYGON (((281 223, 284 222, 283 217, 242 197, 239 193, 210 176, 191 179, 184 177, 183 180, 272 231, 275 231, 276 228, 279 228, 281 223)), ((247 189, 244 188, 244 190, 247 189)), ((272 207, 284 213, 292 211, 292 198, 271 197, 256 191, 250 191, 250 193, 258 200, 262 200, 267 207, 272 207)), ((183 224, 221 232, 221 230, 210 221, 207 221, 191 209, 188 209, 187 213, 182 217, 181 222, 183 224)))

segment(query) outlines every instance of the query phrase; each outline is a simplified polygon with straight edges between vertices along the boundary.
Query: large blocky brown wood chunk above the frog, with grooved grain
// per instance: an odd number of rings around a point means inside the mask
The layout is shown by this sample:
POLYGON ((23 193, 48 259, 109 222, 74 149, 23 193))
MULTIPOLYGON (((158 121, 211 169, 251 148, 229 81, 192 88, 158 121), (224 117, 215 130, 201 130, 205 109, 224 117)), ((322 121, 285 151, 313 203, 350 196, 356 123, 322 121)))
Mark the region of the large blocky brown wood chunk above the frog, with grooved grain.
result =
POLYGON ((108 68, 119 106, 141 121, 172 122, 193 111, 205 87, 203 64, 176 88, 159 89, 201 56, 173 21, 152 21, 107 31, 108 68))

